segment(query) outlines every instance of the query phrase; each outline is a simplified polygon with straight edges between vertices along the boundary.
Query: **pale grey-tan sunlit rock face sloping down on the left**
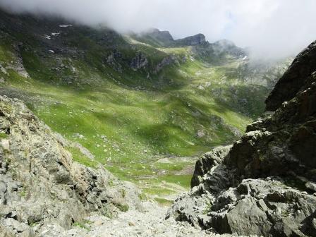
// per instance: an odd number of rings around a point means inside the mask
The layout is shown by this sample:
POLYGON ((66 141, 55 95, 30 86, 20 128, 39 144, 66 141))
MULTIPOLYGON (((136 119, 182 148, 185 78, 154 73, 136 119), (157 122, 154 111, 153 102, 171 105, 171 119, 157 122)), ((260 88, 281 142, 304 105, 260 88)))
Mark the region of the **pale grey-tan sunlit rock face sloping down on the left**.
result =
POLYGON ((0 97, 0 236, 37 236, 90 212, 138 208, 134 186, 73 162, 67 143, 22 102, 0 97))

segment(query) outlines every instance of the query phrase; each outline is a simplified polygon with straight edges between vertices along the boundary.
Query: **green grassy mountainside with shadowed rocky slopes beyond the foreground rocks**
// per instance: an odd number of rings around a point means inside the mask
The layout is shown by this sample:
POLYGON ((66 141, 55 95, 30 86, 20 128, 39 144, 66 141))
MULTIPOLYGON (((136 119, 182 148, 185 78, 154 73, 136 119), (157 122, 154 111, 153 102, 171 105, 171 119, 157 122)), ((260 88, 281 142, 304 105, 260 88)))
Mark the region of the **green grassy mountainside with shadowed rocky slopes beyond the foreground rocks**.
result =
POLYGON ((286 64, 255 63, 204 35, 120 35, 0 13, 0 94, 77 142, 75 161, 102 164, 162 203, 188 188, 197 155, 233 142, 262 113, 286 64))

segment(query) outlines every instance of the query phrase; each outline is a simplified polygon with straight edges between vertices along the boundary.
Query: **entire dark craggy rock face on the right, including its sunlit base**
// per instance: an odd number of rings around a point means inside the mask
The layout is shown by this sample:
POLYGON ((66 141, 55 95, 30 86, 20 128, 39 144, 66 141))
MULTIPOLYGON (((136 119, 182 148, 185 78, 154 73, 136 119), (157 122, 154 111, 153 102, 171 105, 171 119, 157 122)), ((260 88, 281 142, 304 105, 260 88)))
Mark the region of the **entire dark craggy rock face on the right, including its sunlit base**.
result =
POLYGON ((316 236, 316 43, 232 147, 205 154, 167 217, 218 233, 316 236))

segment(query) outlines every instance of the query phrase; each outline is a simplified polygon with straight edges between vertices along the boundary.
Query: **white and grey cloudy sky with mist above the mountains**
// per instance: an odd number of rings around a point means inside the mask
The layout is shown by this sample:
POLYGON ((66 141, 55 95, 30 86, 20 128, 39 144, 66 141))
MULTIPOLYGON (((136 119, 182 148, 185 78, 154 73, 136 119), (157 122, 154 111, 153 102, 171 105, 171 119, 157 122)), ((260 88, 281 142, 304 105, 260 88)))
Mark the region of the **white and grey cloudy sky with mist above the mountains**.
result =
POLYGON ((202 32, 209 42, 231 39, 259 56, 297 54, 316 39, 316 0, 0 0, 13 11, 57 13, 120 32, 202 32))

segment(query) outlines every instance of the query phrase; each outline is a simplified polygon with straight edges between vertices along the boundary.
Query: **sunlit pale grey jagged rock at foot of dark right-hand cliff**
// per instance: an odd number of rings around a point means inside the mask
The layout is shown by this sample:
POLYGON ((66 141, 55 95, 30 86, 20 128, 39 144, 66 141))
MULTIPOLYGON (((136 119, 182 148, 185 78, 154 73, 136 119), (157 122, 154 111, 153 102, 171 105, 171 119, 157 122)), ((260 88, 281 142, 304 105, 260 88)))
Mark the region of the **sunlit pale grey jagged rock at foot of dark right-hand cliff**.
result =
POLYGON ((286 186, 281 178, 245 179, 236 188, 223 188, 221 192, 212 189, 196 186, 176 200, 167 218, 243 236, 315 233, 315 195, 286 186))

